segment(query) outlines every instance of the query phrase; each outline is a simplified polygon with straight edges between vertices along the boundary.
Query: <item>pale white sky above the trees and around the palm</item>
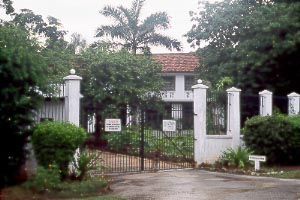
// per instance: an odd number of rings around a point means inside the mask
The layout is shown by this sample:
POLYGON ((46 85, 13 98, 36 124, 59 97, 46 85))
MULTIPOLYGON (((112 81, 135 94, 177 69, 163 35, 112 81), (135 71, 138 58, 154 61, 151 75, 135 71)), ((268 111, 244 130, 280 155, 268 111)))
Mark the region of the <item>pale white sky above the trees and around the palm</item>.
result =
MULTIPOLYGON (((99 11, 106 5, 117 7, 123 5, 130 8, 132 0, 12 0, 16 12, 27 8, 44 18, 52 16, 60 20, 63 29, 68 31, 66 39, 72 33, 79 33, 92 43, 97 27, 112 24, 109 18, 101 15, 99 11)), ((192 27, 190 11, 197 11, 198 0, 146 0, 141 19, 150 14, 165 11, 170 17, 171 27, 162 33, 179 40, 183 45, 181 52, 195 51, 183 37, 192 27)), ((153 53, 169 53, 166 48, 152 48, 153 53)), ((176 50, 172 52, 177 52, 176 50)))

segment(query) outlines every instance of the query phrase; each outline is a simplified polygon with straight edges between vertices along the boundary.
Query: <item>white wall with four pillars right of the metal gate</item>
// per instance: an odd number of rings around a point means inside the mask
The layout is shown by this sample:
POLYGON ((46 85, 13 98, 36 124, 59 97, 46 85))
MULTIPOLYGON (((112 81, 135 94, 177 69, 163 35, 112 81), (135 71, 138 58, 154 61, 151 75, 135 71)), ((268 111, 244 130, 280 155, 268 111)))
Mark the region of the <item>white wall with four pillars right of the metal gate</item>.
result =
MULTIPOLYGON (((240 93, 237 88, 227 91, 227 131, 226 135, 207 135, 206 130, 206 94, 208 86, 201 80, 192 87, 194 92, 194 159, 197 164, 214 163, 228 148, 243 146, 241 130, 240 93)), ((259 113, 261 116, 272 115, 272 92, 259 92, 259 113)), ((300 95, 291 93, 288 96, 288 114, 299 114, 300 95)))

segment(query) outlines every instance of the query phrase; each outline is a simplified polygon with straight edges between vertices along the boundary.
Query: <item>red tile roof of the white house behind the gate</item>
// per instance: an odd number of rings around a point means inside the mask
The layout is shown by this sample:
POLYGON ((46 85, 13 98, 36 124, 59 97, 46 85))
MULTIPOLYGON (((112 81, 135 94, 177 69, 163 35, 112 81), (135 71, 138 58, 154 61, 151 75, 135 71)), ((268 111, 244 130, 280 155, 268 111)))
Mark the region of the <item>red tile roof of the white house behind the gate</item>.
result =
POLYGON ((199 66, 195 53, 161 53, 152 57, 162 64, 163 72, 193 72, 199 66))

